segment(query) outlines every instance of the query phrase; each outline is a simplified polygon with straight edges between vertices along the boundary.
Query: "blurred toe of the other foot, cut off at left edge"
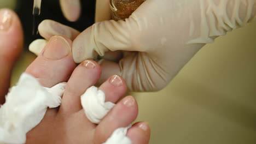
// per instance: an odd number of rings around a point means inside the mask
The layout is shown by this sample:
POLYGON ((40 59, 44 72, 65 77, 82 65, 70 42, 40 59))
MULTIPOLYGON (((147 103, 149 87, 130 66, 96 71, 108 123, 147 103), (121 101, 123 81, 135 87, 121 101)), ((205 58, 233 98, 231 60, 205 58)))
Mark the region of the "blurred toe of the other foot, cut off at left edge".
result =
POLYGON ((0 10, 0 104, 8 92, 10 74, 23 46, 19 17, 9 9, 0 10))

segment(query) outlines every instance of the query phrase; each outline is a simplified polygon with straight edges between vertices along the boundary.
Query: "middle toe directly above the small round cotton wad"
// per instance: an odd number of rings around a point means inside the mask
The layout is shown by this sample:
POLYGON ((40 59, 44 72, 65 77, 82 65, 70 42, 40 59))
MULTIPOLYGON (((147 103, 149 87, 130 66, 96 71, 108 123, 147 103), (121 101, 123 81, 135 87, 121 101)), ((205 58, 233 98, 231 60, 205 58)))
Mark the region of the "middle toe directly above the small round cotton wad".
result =
POLYGON ((105 93, 106 101, 116 103, 126 93, 126 83, 121 76, 113 75, 99 89, 105 93))

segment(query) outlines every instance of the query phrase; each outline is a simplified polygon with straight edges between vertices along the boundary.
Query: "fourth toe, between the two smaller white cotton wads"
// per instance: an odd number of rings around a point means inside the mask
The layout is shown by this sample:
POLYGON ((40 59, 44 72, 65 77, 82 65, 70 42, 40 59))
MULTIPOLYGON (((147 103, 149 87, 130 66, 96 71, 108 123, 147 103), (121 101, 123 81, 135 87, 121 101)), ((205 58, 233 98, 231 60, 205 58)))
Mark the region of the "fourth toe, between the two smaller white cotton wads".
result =
POLYGON ((115 129, 127 127, 127 125, 135 121, 137 115, 138 105, 136 100, 132 96, 122 99, 98 124, 95 130, 96 143, 106 141, 115 129))

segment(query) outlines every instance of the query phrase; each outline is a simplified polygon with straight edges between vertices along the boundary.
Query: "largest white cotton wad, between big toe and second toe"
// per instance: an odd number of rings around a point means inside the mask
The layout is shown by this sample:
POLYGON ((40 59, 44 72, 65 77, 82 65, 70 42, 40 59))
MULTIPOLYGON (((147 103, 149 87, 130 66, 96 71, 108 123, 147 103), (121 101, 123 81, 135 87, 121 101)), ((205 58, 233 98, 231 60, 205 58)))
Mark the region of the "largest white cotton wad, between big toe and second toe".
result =
POLYGON ((0 142, 25 143, 26 133, 42 121, 47 108, 61 104, 65 87, 62 82, 46 88, 35 77, 22 74, 0 107, 0 142))

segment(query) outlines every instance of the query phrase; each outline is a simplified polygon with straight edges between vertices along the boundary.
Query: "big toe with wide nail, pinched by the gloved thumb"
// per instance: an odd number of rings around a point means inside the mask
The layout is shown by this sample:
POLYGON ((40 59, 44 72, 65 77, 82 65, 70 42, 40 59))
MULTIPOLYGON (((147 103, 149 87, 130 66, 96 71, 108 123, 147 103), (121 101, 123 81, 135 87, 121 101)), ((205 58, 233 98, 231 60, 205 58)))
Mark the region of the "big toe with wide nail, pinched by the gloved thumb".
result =
POLYGON ((45 87, 67 81, 75 68, 71 54, 71 40, 54 36, 44 50, 27 68, 26 73, 38 78, 45 87))

